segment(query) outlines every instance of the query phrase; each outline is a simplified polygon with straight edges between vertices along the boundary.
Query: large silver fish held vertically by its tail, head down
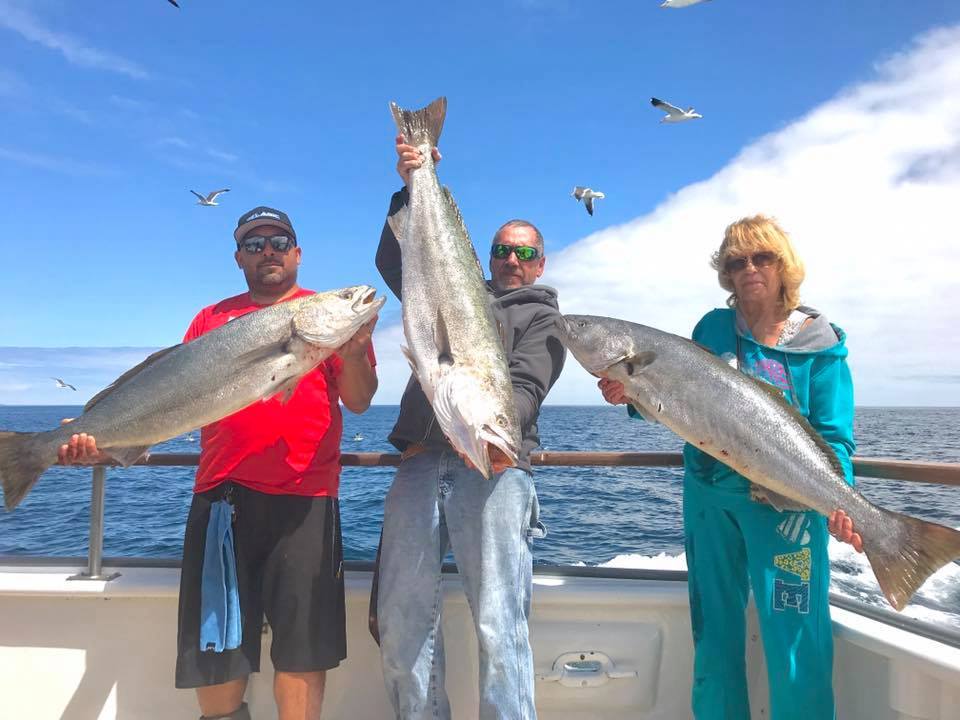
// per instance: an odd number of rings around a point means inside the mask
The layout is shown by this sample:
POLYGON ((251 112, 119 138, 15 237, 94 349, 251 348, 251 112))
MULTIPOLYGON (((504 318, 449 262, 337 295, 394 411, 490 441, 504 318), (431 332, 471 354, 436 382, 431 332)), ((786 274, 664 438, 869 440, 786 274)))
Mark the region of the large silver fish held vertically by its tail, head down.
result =
POLYGON ((388 222, 403 258, 402 348, 441 430, 484 477, 491 452, 517 462, 520 428, 503 343, 483 270, 450 191, 440 185, 430 151, 446 98, 420 110, 390 103, 397 128, 423 154, 410 173, 409 204, 388 222))

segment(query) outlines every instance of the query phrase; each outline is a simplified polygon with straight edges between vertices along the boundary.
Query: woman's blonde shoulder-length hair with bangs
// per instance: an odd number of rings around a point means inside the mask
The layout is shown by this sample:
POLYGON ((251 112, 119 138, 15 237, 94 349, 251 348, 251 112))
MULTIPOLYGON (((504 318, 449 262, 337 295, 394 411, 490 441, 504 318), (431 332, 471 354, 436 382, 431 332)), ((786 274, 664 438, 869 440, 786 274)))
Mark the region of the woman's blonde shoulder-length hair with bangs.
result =
POLYGON ((797 256, 786 231, 776 220, 766 215, 745 217, 730 223, 723 232, 723 242, 710 259, 710 265, 717 271, 720 287, 730 293, 727 305, 736 307, 737 294, 733 280, 724 270, 727 259, 744 257, 757 252, 775 253, 780 272, 780 304, 787 312, 800 305, 800 284, 806 275, 803 262, 797 256))

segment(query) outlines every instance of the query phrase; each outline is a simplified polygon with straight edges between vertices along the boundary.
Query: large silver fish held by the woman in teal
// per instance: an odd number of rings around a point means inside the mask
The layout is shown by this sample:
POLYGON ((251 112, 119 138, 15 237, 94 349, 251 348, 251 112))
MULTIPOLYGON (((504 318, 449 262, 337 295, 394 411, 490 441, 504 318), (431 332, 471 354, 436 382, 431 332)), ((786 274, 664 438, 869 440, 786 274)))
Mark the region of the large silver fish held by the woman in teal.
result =
POLYGON ((779 390, 677 335, 625 320, 566 315, 560 339, 593 375, 694 447, 766 489, 783 509, 843 510, 897 610, 960 557, 960 532, 872 504, 844 480, 836 453, 779 390), (792 502, 791 502, 792 501, 792 502))

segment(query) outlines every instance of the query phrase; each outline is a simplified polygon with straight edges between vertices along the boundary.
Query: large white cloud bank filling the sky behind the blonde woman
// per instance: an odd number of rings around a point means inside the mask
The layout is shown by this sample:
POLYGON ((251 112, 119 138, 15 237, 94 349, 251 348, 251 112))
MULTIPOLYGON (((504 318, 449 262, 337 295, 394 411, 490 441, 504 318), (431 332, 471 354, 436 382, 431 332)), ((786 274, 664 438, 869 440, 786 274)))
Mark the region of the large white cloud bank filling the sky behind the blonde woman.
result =
MULTIPOLYGON (((676 138, 666 141, 683 142, 676 138)), ((857 403, 960 404, 958 138, 960 27, 952 27, 924 35, 878 64, 871 81, 753 142, 646 215, 550 253, 544 280, 560 291, 564 312, 689 336, 726 299, 708 264, 723 229, 774 215, 807 265, 804 301, 848 333, 857 403)), ((406 381, 387 343, 396 348, 401 336, 399 325, 378 333, 377 402, 397 402, 406 381)), ((602 398, 569 357, 547 402, 602 398)))

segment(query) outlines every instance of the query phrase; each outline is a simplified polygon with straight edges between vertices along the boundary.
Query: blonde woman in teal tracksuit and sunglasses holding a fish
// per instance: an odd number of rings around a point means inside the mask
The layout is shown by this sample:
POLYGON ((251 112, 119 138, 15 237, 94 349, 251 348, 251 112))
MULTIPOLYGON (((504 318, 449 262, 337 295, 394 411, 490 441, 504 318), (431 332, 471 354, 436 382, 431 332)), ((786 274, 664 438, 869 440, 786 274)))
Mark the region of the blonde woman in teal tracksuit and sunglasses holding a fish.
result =
MULTIPOLYGON (((731 292, 693 339, 742 372, 780 389, 836 451, 853 483, 853 385, 842 330, 801 306, 803 266, 770 218, 727 228, 713 266, 731 292)), ((608 401, 622 385, 602 380, 608 401)), ((630 414, 636 410, 628 407, 630 414)), ((777 428, 769 428, 770 433, 777 428)), ((749 720, 745 609, 753 589, 770 684, 772 720, 830 720, 833 639, 827 521, 814 511, 777 509, 743 476, 687 444, 683 520, 695 646, 697 720, 749 720)), ((838 537, 860 544, 849 519, 831 518, 838 537), (844 525, 846 527, 844 528, 844 525)))

